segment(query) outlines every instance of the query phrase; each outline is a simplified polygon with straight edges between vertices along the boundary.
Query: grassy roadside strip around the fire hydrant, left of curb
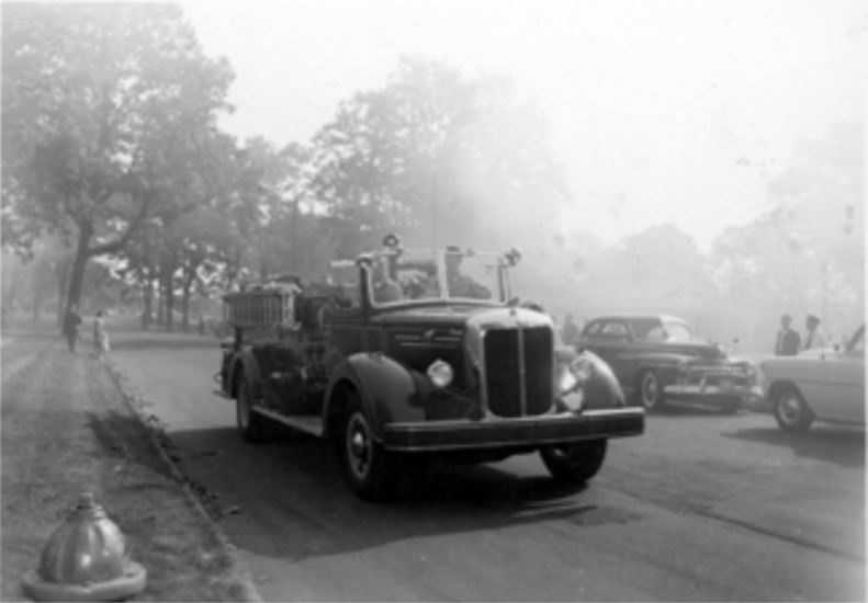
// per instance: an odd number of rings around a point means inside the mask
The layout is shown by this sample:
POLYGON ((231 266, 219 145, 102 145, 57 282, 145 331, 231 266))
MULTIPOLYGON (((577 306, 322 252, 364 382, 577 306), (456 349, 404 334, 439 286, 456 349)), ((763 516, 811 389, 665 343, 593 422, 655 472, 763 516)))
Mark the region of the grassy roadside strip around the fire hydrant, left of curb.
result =
POLYGON ((2 600, 90 490, 148 570, 138 601, 250 601, 230 547, 154 444, 109 367, 50 332, 3 332, 2 600))

